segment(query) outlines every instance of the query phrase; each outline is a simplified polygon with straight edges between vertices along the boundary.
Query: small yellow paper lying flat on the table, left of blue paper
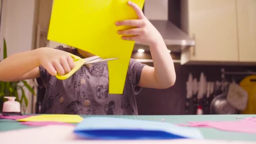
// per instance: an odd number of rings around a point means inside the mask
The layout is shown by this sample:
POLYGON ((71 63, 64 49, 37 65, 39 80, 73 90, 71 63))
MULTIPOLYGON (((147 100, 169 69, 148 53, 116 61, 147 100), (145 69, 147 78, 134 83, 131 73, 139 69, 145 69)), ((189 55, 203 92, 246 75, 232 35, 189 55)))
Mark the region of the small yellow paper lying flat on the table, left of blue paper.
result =
POLYGON ((17 121, 21 122, 63 122, 63 123, 80 123, 83 120, 79 115, 37 115, 31 116, 17 121))

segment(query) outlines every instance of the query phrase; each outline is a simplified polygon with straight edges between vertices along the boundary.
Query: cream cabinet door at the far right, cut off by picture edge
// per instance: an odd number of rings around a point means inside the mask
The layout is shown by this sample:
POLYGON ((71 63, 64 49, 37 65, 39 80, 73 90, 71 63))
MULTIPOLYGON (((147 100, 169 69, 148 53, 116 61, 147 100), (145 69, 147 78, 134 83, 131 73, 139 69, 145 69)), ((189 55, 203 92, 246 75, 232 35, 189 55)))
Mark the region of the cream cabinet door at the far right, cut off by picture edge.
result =
POLYGON ((237 0, 239 61, 256 62, 256 0, 237 0))

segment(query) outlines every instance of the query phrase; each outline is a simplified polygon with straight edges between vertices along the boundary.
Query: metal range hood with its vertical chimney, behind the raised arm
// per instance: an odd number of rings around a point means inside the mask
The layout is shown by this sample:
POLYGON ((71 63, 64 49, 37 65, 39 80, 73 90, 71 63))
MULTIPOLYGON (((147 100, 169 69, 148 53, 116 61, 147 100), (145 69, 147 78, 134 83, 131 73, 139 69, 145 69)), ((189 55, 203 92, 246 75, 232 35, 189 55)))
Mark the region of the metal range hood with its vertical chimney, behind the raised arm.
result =
MULTIPOLYGON (((180 21, 180 3, 180 0, 145 0, 144 3, 144 15, 160 32, 167 48, 178 53, 184 48, 195 45, 192 37, 172 23, 178 24, 177 21, 180 21)), ((134 51, 138 48, 149 51, 148 46, 135 43, 134 51)))

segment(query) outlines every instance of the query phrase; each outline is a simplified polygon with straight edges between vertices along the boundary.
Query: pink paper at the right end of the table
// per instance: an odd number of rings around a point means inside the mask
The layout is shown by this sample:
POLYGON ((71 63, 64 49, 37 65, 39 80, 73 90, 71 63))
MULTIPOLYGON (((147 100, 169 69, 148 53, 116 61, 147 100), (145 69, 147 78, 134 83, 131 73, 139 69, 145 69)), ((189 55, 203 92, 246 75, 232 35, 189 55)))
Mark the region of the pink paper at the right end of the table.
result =
POLYGON ((234 131, 242 133, 256 133, 256 117, 247 117, 240 121, 205 121, 188 122, 190 124, 180 126, 191 126, 200 128, 216 128, 222 131, 234 131))

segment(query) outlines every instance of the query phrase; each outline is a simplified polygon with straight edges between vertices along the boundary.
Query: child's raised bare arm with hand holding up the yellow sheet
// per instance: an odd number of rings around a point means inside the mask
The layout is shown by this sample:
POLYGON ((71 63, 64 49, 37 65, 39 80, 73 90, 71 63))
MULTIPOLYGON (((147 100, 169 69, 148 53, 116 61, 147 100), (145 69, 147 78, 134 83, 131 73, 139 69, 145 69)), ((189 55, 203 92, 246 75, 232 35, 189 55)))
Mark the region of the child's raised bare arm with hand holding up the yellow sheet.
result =
POLYGON ((123 40, 138 41, 144 45, 149 45, 154 67, 145 66, 141 72, 139 86, 147 88, 169 88, 174 85, 176 80, 173 60, 163 41, 160 33, 144 16, 138 5, 128 2, 137 13, 138 19, 117 21, 117 26, 129 25, 136 27, 118 31, 120 35, 134 35, 131 37, 123 36, 123 40))

